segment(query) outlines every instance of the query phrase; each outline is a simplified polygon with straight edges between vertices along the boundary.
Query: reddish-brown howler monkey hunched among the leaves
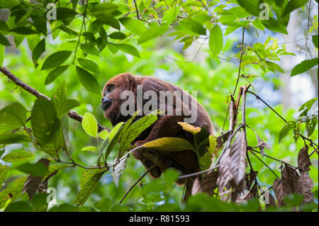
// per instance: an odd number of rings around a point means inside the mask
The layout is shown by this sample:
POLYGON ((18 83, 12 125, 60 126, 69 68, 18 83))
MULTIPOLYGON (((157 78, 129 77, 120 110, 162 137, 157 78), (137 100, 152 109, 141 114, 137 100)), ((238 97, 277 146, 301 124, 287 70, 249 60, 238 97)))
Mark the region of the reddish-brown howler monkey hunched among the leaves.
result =
MULTIPOLYGON (((183 91, 181 88, 174 84, 170 84, 167 81, 162 81, 161 79, 157 79, 155 77, 134 76, 130 73, 116 75, 116 77, 108 80, 103 88, 101 107, 103 108, 103 111, 105 111, 106 118, 111 120, 113 126, 117 123, 125 122, 132 116, 132 114, 123 115, 123 113, 121 113, 121 106, 126 101, 125 98, 121 98, 121 94, 123 94, 124 91, 133 92, 133 106, 135 107, 136 111, 138 108, 138 89, 141 88, 143 95, 145 95, 145 93, 147 94, 147 91, 152 91, 153 94, 156 94, 157 97, 160 97, 157 98, 157 100, 155 101, 155 105, 157 103, 157 106, 159 106, 157 108, 164 110, 165 114, 159 115, 157 121, 135 139, 133 145, 140 146, 145 144, 146 142, 156 140, 160 137, 181 137, 193 143, 193 135, 191 135, 190 132, 183 130, 183 128, 181 128, 181 125, 178 124, 178 122, 184 122, 184 119, 189 117, 189 111, 191 111, 192 108, 196 108, 196 119, 194 120, 194 123, 190 124, 200 128, 205 127, 208 130, 209 134, 213 134, 213 126, 211 125, 211 119, 208 113, 203 108, 203 106, 201 106, 201 104, 198 103, 186 91, 183 91), (160 91, 171 91, 172 93, 174 93, 174 91, 177 91, 184 96, 183 98, 173 96, 173 101, 171 101, 172 104, 170 106, 168 103, 164 103, 163 105, 163 103, 161 102, 161 98, 162 100, 163 98, 165 98, 165 100, 167 98, 168 100, 169 97, 161 96, 160 91), (184 98, 185 96, 186 98, 184 98), (167 109, 169 107, 170 110, 167 109), (179 111, 181 110, 179 108, 182 108, 183 110, 179 111), (186 115, 186 111, 188 111, 188 115, 186 115)), ((149 99, 150 98, 146 98, 142 100, 143 110, 145 105, 147 104, 147 101, 150 101, 149 99)), ((134 113, 135 111, 131 111, 131 113, 134 113)), ((145 115, 145 113, 142 113, 141 115, 135 117, 135 120, 138 120, 143 115, 145 115)), ((133 152, 133 156, 136 159, 139 159, 140 162, 142 162, 142 164, 147 169, 150 168, 150 166, 152 166, 153 164, 157 165, 150 171, 150 174, 155 178, 159 177, 162 171, 169 167, 179 169, 182 174, 191 174, 200 170, 196 154, 191 150, 184 150, 181 152, 164 152, 154 150, 154 152, 150 152, 149 150, 141 149, 133 152)), ((178 181, 179 184, 185 182, 185 180, 178 181)), ((188 182, 187 184, 191 185, 192 183, 188 182)), ((189 196, 189 194, 186 194, 186 196, 189 196)))

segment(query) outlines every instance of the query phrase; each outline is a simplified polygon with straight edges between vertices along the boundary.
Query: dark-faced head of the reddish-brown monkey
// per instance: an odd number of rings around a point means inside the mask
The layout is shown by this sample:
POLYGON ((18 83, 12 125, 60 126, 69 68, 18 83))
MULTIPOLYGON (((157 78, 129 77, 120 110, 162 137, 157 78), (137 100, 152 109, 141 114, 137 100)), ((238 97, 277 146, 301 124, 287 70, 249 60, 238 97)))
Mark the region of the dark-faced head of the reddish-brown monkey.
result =
POLYGON ((125 101, 121 99, 121 94, 123 91, 133 91, 136 94, 136 86, 137 80, 130 73, 118 74, 106 82, 102 91, 101 108, 113 126, 130 118, 130 115, 121 114, 121 104, 125 101))

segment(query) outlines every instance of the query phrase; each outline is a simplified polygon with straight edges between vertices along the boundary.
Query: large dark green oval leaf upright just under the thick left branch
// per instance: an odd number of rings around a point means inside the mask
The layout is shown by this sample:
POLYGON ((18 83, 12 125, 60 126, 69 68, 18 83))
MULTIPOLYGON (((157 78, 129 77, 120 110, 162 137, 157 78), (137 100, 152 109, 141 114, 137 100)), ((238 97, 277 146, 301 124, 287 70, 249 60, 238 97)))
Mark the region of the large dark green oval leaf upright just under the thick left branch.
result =
POLYGON ((55 134, 59 128, 57 111, 51 101, 39 96, 33 105, 31 126, 33 135, 41 145, 55 141, 55 134))

